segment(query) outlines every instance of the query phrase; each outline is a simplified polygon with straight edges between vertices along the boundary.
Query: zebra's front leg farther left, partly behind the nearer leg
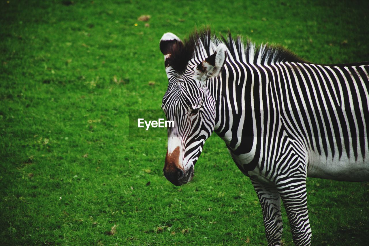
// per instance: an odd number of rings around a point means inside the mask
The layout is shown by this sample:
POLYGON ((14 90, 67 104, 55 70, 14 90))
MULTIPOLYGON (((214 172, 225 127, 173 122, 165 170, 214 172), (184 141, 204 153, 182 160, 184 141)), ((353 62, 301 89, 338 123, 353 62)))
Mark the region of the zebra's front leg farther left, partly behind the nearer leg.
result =
POLYGON ((261 184, 252 178, 251 182, 254 185, 263 211, 265 235, 268 245, 281 245, 283 225, 280 195, 275 187, 261 184))

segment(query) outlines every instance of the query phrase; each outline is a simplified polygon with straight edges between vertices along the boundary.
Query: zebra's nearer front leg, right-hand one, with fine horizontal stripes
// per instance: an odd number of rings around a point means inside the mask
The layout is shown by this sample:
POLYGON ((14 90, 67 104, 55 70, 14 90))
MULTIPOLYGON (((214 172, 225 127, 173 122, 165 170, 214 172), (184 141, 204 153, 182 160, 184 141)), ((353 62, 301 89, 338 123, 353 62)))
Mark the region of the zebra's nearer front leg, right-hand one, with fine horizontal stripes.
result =
POLYGON ((310 245, 311 228, 307 212, 306 175, 296 176, 280 179, 276 185, 286 208, 294 243, 310 245))

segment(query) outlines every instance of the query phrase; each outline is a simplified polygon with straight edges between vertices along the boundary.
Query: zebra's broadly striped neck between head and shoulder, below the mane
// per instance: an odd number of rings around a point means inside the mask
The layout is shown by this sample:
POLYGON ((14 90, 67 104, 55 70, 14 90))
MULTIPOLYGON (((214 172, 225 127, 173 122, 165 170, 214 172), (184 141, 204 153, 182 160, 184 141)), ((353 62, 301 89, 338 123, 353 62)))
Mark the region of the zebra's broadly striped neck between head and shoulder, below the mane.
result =
POLYGON ((256 120, 253 91, 261 83, 255 81, 252 68, 241 63, 227 62, 221 75, 210 83, 210 92, 215 99, 214 131, 227 144, 234 155, 255 155, 256 120))

